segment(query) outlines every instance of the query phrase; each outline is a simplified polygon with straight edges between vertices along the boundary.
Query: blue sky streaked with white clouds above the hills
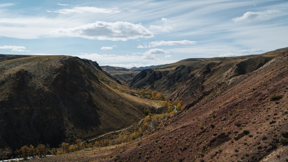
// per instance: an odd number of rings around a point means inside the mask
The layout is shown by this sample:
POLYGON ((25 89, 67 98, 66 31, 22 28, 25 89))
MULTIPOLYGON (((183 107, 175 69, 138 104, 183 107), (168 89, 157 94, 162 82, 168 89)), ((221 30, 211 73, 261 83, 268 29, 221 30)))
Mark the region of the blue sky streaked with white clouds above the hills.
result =
POLYGON ((0 54, 131 68, 262 54, 287 38, 287 0, 0 1, 0 54))

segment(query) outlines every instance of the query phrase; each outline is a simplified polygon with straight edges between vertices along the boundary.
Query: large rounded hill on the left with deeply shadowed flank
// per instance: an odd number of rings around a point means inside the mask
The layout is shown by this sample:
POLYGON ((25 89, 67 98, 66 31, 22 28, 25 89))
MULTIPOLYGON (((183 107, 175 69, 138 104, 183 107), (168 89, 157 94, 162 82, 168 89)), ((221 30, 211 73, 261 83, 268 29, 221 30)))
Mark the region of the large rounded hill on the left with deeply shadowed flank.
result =
POLYGON ((0 148, 86 140, 139 123, 151 107, 96 62, 21 57, 1 55, 0 148))

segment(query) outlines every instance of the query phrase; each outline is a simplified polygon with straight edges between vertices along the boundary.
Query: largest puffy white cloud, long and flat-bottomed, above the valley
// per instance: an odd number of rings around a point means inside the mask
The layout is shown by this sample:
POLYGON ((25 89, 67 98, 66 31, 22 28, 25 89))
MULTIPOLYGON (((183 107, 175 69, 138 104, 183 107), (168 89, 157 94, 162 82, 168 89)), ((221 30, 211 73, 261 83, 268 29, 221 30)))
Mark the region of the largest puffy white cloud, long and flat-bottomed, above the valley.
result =
POLYGON ((58 28, 50 34, 58 37, 82 37, 87 39, 127 41, 128 39, 151 38, 153 33, 141 24, 130 22, 96 21, 75 28, 58 28))

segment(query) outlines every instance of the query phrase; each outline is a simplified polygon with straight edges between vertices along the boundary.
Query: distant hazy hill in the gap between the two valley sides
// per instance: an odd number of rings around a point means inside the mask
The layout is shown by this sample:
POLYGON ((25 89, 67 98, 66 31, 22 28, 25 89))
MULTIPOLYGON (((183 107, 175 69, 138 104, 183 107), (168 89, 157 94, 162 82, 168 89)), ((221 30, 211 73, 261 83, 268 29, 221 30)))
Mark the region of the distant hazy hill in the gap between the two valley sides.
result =
POLYGON ((139 68, 121 68, 121 67, 113 67, 113 66, 100 66, 104 71, 108 74, 112 75, 119 81, 126 82, 127 80, 133 78, 135 75, 140 73, 142 70, 139 68))

